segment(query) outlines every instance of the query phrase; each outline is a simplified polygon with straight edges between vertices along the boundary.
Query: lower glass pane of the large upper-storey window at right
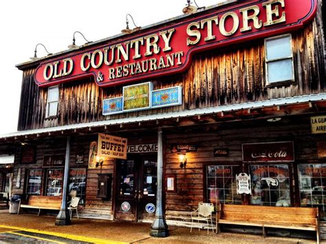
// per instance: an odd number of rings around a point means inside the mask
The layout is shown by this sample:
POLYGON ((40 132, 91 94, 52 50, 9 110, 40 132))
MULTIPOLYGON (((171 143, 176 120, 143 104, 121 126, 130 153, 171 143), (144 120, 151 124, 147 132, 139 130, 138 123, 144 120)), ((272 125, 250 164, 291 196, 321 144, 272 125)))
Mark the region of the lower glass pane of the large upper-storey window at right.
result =
POLYGON ((292 58, 268 63, 268 82, 292 80, 292 58))

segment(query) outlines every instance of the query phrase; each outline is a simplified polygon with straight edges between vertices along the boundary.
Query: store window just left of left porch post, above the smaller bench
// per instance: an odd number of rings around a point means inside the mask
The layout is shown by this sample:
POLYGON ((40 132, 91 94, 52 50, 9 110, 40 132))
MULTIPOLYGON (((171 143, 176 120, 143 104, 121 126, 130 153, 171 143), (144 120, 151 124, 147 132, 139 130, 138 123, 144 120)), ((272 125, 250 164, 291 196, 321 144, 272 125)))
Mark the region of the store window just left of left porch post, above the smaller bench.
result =
POLYGON ((47 170, 45 192, 47 196, 58 197, 62 195, 63 168, 50 168, 47 170))

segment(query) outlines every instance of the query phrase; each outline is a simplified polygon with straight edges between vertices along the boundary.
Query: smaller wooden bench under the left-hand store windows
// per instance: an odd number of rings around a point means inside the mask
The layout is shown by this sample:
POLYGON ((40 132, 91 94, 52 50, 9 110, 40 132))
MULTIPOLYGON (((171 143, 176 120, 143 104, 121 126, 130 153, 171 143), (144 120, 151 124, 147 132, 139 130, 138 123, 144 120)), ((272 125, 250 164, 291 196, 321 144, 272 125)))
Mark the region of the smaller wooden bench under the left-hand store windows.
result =
POLYGON ((22 204, 19 201, 19 208, 17 214, 21 208, 35 208, 39 210, 60 210, 61 209, 61 197, 47 197, 47 196, 29 196, 26 204, 22 204))

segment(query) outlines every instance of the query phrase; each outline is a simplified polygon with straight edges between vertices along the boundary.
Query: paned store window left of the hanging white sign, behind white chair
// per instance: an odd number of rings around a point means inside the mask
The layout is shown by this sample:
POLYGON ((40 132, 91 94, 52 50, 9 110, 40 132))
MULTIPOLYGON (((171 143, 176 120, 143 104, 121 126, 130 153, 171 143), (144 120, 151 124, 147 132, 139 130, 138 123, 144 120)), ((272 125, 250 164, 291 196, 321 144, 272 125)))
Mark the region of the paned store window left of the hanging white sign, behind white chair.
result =
POLYGON ((240 166, 209 165, 206 167, 206 196, 209 203, 241 204, 237 195, 236 175, 240 166))

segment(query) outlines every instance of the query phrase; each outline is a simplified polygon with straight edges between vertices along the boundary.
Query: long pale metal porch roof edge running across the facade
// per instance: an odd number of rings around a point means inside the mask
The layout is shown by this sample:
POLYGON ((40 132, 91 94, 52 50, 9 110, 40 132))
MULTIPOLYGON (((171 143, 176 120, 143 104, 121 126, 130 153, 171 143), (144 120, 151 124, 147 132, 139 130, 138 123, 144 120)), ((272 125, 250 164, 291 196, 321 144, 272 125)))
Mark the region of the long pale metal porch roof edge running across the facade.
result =
POLYGON ((230 111, 240 111, 240 110, 248 110, 248 109, 259 109, 266 107, 275 107, 282 105, 291 105, 291 104, 301 104, 307 102, 320 102, 326 100, 326 93, 318 93, 318 94, 309 94, 303 96, 294 96, 287 98, 277 98, 270 100, 261 100, 256 102, 244 102, 239 104, 228 104, 219 107, 208 107, 204 109, 193 109, 193 110, 185 110, 185 111, 175 111, 170 113, 157 113, 153 115, 144 115, 139 117, 131 117, 131 118, 121 118, 116 120, 102 120, 96 122, 88 122, 88 123, 80 123, 80 124, 67 124, 64 126, 55 126, 50 128, 43 129, 34 129, 28 131, 17 131, 14 133, 9 133, 6 135, 0 135, 0 139, 5 139, 9 137, 19 137, 25 135, 37 135, 42 133, 51 133, 56 131, 70 131, 74 129, 84 129, 91 127, 99 127, 99 126, 113 126, 118 124, 131 124, 138 122, 149 122, 155 120, 166 120, 173 118, 187 118, 193 117, 197 115, 209 115, 221 112, 230 112, 230 111))

